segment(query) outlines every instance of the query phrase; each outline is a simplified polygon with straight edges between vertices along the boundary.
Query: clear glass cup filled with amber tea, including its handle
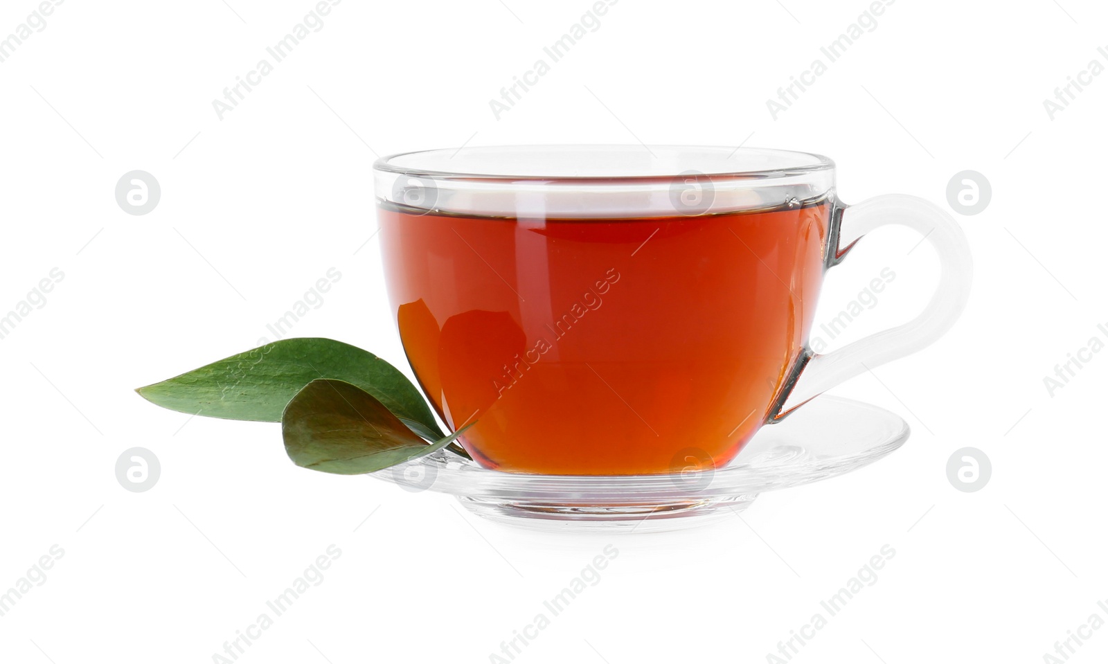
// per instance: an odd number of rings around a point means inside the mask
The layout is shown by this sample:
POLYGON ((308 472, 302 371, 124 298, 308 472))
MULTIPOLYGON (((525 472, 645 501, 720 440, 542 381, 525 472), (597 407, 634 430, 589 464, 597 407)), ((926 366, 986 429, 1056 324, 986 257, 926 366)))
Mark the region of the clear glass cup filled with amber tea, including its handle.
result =
POLYGON ((947 214, 902 195, 843 205, 815 154, 464 147, 386 157, 373 176, 406 353, 486 469, 718 471, 763 425, 932 343, 968 295, 947 214), (934 245, 935 295, 906 325, 813 354, 823 274, 884 224, 934 245))

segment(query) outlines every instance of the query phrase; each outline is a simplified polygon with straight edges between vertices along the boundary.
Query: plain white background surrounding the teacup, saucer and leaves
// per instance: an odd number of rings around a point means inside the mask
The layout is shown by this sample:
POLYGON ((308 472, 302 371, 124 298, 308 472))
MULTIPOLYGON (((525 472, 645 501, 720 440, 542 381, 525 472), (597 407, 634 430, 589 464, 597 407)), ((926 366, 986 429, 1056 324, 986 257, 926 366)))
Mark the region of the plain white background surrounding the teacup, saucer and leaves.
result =
MULTIPOLYGON (((878 581, 792 661, 1042 662, 1106 616, 1108 353, 1053 396, 1044 377, 1108 324, 1108 75, 1053 120, 1043 101, 1108 63, 1108 8, 900 0, 774 120, 766 100, 868 2, 623 0, 497 121, 489 100, 591 2, 346 0, 219 120, 212 101, 314 7, 228 2, 70 0, 0 63, 0 313, 64 273, 0 340, 0 591, 64 550, 0 617, 0 658, 212 662, 330 544, 324 582, 239 662, 489 662, 607 544, 599 583, 516 662, 766 662, 884 544, 878 581), (377 155, 639 140, 828 154, 848 203, 950 208, 952 175, 987 176, 989 206, 955 215, 975 261, 961 321, 833 390, 904 417, 904 448, 710 528, 544 535, 306 471, 277 425, 189 420, 132 391, 271 338, 330 267, 341 279, 293 334, 404 366, 379 247, 362 246, 377 155), (136 168, 162 186, 145 216, 114 198, 136 168), (143 493, 114 471, 136 446, 162 464, 143 493), (977 492, 946 477, 966 446, 992 459, 977 492)), ((35 7, 6 1, 0 37, 35 7)), ((835 344, 922 307, 935 261, 909 253, 917 239, 879 231, 830 274, 820 321, 897 275, 835 344)), ((1070 661, 1108 655, 1108 629, 1091 634, 1070 661)))

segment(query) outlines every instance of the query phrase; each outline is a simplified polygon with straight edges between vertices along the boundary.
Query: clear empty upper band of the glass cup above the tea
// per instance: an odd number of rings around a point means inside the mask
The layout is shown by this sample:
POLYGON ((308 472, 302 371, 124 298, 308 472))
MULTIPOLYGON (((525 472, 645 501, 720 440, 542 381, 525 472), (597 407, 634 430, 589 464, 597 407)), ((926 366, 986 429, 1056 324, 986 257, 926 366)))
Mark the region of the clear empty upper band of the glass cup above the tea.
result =
POLYGON ((378 160, 379 202, 428 213, 550 218, 696 216, 825 196, 825 156, 749 147, 514 145, 378 160))

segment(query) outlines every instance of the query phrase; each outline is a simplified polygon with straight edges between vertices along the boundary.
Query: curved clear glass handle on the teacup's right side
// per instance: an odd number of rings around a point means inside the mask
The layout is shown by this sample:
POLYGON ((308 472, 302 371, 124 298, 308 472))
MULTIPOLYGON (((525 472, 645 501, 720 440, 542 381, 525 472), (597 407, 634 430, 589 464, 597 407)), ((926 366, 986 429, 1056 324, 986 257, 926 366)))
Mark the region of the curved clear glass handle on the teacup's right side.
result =
POLYGON ((870 231, 879 226, 907 226, 935 247, 938 287, 926 308, 904 325, 825 355, 806 349, 770 421, 780 420, 848 378, 926 348, 954 325, 970 297, 973 278, 970 245, 957 223, 937 205, 916 196, 889 194, 856 205, 840 206, 837 213, 828 242, 828 268, 842 262, 854 244, 870 231))

